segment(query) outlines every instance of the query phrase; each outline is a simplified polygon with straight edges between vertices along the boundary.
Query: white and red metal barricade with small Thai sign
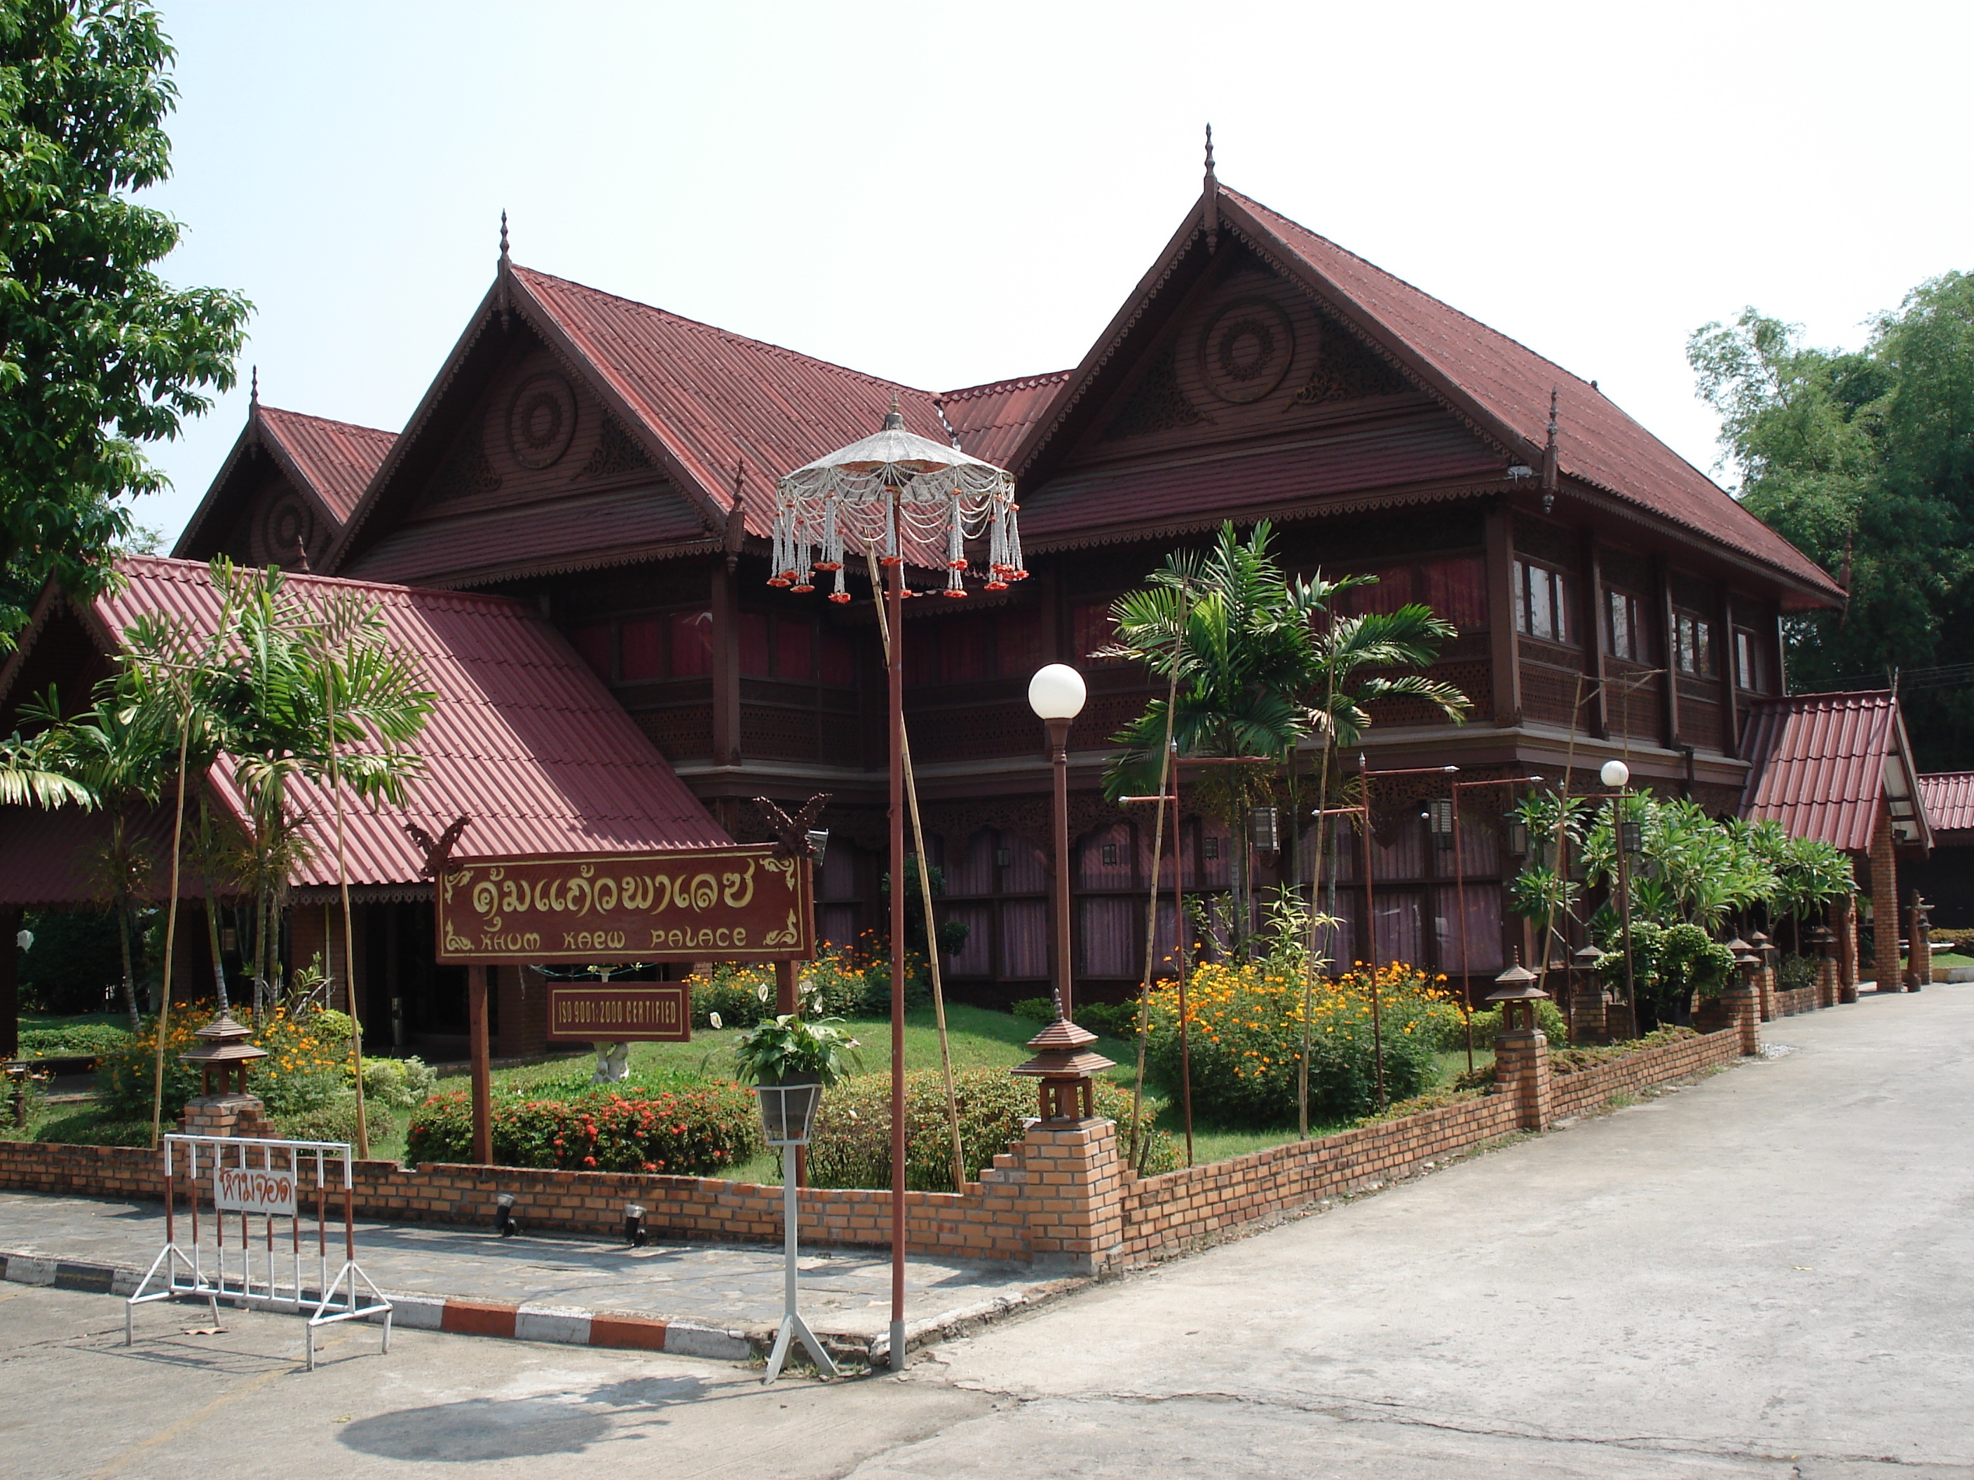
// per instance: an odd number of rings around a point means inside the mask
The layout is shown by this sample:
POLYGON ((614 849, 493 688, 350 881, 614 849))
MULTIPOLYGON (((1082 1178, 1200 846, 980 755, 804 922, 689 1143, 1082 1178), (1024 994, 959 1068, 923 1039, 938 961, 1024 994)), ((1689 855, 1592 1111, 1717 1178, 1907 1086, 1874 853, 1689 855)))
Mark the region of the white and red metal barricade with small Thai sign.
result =
POLYGON ((219 1318, 219 1302, 300 1312, 308 1316, 308 1369, 316 1369, 316 1328, 338 1320, 383 1316, 383 1350, 391 1350, 391 1300, 357 1263, 355 1166, 347 1141, 266 1141, 253 1137, 164 1139, 164 1249, 152 1259, 136 1295, 124 1302, 124 1346, 136 1336, 134 1316, 152 1300, 203 1298, 219 1318), (211 1243, 201 1239, 199 1176, 211 1182, 211 1243), (180 1241, 178 1190, 190 1208, 190 1247, 180 1241), (334 1194, 342 1194, 334 1198, 334 1194), (332 1198, 343 1223, 342 1265, 330 1277, 332 1198), (312 1204, 312 1208, 310 1208, 312 1204), (239 1216, 239 1239, 227 1243, 227 1220, 239 1216), (263 1220, 255 1249, 253 1220, 263 1220), (286 1249, 274 1247, 274 1220, 288 1221, 286 1249), (314 1220, 314 1285, 304 1285, 302 1221, 314 1220), (257 1259, 259 1253, 259 1259, 257 1259), (211 1275, 207 1277, 207 1255, 211 1275), (259 1279, 255 1265, 259 1263, 259 1279), (156 1285, 156 1289, 152 1289, 156 1285))

